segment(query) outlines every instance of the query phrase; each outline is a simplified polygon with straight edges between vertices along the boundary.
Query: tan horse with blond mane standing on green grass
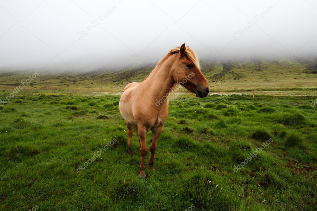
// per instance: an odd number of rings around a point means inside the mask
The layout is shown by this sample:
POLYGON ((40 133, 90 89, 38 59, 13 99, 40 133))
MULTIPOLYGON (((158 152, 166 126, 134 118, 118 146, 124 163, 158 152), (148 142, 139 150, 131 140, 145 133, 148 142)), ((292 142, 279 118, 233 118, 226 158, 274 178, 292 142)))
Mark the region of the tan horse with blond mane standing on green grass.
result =
POLYGON ((141 83, 126 85, 120 98, 119 109, 128 127, 128 154, 131 154, 132 125, 140 142, 140 177, 146 177, 144 159, 147 153, 146 133, 152 131, 149 166, 154 170, 154 153, 159 135, 168 114, 166 97, 177 84, 205 97, 209 85, 200 71, 196 53, 183 44, 172 49, 159 61, 150 75, 141 83))

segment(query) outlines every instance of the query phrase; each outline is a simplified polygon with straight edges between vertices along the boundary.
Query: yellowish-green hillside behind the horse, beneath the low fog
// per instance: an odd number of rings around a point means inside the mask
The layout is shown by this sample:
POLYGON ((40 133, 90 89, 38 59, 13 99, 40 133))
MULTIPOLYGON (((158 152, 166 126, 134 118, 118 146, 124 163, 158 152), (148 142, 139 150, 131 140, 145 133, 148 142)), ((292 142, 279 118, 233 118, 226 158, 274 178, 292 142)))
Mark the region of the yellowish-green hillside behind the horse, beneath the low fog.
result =
MULTIPOLYGON (((307 64, 295 59, 230 61, 232 70, 215 80, 213 76, 223 71, 228 62, 201 62, 202 71, 209 81, 212 92, 285 91, 293 94, 314 94, 317 90, 317 74, 309 72, 307 64), (234 79, 236 78, 236 79, 234 79)), ((102 71, 85 74, 44 74, 25 90, 38 92, 102 93, 121 92, 130 82, 141 82, 154 65, 134 67, 119 71, 102 71)), ((40 72, 41 73, 41 72, 40 72)), ((25 81, 32 73, 0 73, 0 90, 10 91, 20 80, 25 81)), ((184 90, 183 90, 184 91, 184 90)))

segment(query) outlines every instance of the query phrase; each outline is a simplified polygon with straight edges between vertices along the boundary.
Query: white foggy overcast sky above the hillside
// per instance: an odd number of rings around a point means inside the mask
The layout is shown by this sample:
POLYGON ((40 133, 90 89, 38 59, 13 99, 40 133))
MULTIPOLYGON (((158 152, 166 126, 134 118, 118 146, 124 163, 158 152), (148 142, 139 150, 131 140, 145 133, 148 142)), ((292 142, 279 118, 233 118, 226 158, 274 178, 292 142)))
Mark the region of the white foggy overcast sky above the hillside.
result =
POLYGON ((316 53, 313 0, 0 0, 0 69, 93 70, 200 58, 316 53))

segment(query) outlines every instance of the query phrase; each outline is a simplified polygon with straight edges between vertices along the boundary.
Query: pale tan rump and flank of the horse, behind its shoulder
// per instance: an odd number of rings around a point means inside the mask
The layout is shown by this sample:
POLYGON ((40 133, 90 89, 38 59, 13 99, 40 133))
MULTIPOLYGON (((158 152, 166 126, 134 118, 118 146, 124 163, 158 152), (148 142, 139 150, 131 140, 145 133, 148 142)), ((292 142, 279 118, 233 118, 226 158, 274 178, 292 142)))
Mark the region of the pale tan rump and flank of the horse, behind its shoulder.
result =
POLYGON ((132 98, 134 95, 133 90, 135 90, 136 87, 138 87, 140 83, 133 82, 124 88, 122 95, 120 97, 120 102, 119 102, 119 110, 120 114, 122 117, 129 123, 133 124, 134 123, 134 118, 133 118, 133 112, 132 112, 132 98))

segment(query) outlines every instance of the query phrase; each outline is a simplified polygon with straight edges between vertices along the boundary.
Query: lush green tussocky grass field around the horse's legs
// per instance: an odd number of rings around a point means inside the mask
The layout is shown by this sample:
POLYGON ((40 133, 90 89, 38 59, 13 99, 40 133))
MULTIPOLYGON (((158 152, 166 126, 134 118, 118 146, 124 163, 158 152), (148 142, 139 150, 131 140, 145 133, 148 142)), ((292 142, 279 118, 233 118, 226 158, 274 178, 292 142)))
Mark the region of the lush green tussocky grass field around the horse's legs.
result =
POLYGON ((146 163, 145 179, 135 133, 133 154, 126 154, 119 98, 21 93, 0 107, 0 209, 316 208, 313 96, 178 96, 158 141, 156 170, 146 163))

